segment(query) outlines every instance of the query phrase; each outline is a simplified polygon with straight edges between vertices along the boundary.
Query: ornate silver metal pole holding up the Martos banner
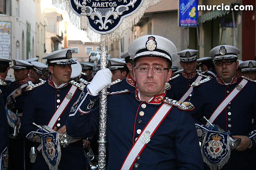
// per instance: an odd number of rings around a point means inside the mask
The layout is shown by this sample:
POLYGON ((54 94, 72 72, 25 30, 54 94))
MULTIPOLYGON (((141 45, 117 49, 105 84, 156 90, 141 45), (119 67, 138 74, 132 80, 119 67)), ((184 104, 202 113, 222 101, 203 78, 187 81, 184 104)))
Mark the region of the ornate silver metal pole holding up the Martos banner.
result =
MULTIPOLYGON (((100 69, 107 68, 108 47, 100 44, 100 69)), ((100 92, 99 170, 106 169, 107 88, 100 92)))

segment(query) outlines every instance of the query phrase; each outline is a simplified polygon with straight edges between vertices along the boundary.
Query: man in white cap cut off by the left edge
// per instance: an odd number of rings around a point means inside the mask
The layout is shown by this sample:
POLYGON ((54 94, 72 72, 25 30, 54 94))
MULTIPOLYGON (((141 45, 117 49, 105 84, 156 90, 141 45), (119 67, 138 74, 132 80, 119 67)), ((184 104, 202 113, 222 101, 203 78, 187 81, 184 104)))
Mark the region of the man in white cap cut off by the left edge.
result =
POLYGON ((12 60, 7 59, 6 57, 0 57, 0 90, 2 91, 2 96, 4 100, 4 104, 6 104, 6 82, 5 78, 7 76, 8 70, 10 69, 10 62, 12 60))

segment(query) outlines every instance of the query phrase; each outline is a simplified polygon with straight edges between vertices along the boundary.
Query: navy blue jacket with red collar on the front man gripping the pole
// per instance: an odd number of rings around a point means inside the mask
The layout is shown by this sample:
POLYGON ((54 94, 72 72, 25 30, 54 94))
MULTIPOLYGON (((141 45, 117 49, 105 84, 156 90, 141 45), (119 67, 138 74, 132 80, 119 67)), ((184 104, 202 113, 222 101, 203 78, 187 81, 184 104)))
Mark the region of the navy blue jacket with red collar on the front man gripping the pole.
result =
MULTIPOLYGON (((107 107, 107 149, 108 170, 118 170, 126 155, 144 129, 148 121, 162 104, 164 95, 158 102, 141 102, 136 98, 138 91, 108 96, 107 107), (144 107, 143 107, 144 106, 144 107), (146 107, 145 107, 146 106, 146 107)), ((80 102, 70 112, 66 121, 67 132, 74 137, 91 136, 98 131, 99 107, 92 108, 97 96, 82 92, 80 102)), ((154 99, 152 101, 154 101, 154 99)), ((174 106, 162 121, 150 142, 140 154, 139 169, 202 169, 202 156, 194 121, 188 111, 174 106)), ((132 166, 132 169, 135 169, 132 166)))

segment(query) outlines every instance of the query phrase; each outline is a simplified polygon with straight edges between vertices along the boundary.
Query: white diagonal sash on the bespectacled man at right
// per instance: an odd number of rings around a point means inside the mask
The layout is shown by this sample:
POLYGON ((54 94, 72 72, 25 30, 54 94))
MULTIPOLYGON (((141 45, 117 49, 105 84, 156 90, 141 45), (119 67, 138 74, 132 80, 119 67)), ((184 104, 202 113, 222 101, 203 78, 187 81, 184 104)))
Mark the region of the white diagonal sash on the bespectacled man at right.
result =
MULTIPOLYGON (((215 109, 212 113, 209 121, 212 123, 218 117, 218 115, 222 112, 223 109, 236 97, 236 95, 244 88, 247 84, 248 80, 243 79, 233 90, 232 92, 221 102, 221 104, 215 109)), ((209 125, 207 123, 206 125, 209 125)))

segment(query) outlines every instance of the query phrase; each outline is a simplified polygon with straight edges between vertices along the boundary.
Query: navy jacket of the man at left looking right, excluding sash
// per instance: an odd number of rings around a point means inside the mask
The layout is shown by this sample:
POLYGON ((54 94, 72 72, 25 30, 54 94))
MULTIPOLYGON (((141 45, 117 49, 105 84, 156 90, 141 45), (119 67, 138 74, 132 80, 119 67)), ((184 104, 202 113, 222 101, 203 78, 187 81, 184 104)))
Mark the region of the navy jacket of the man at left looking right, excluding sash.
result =
MULTIPOLYGON (((27 137, 32 131, 37 131, 38 127, 32 125, 35 122, 38 125, 48 125, 52 115, 60 106, 62 100, 66 98, 66 94, 71 88, 71 84, 67 83, 62 88, 55 88, 50 85, 51 81, 48 80, 45 84, 38 86, 31 90, 27 96, 24 106, 20 134, 23 137, 27 137)), ((70 100, 66 109, 56 121, 55 126, 60 129, 65 125, 65 121, 68 118, 70 108, 76 102, 81 90, 77 89, 73 98, 70 100)), ((36 143, 38 147, 40 143, 36 143)), ((71 169, 86 169, 86 157, 84 155, 82 140, 75 143, 70 143, 68 147, 61 149, 61 159, 59 164, 60 170, 71 169)), ((38 153, 36 162, 33 164, 33 170, 46 170, 48 165, 46 164, 42 153, 38 153)))

